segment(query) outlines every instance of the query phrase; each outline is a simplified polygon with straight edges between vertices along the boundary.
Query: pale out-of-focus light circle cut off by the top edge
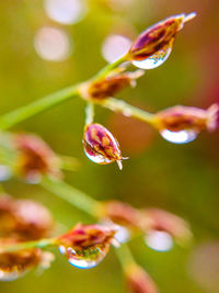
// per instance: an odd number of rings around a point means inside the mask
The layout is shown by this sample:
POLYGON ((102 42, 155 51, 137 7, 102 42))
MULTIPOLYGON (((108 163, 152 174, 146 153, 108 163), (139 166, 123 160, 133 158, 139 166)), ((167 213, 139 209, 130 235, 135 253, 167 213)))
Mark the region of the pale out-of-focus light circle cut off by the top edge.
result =
POLYGON ((46 0, 45 10, 51 20, 73 24, 83 19, 87 7, 82 0, 46 0))

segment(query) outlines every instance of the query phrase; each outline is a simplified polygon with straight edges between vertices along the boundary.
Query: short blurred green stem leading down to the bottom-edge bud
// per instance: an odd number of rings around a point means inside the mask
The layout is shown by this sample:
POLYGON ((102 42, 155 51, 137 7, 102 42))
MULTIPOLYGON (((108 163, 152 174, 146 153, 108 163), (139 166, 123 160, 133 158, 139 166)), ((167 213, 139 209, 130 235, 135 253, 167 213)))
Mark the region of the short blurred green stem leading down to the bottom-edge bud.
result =
POLYGON ((126 272, 128 268, 136 263, 129 247, 126 244, 123 244, 119 248, 115 248, 116 256, 120 262, 120 266, 126 272))

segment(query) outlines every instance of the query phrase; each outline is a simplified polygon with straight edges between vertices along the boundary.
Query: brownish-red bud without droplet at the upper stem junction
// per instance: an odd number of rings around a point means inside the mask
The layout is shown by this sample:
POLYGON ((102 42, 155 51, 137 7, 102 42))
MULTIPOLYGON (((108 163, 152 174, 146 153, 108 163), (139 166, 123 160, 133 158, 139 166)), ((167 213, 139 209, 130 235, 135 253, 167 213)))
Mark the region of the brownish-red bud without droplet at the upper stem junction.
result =
POLYGON ((120 70, 117 69, 101 80, 83 83, 80 91, 82 97, 87 100, 102 100, 108 97, 114 97, 117 92, 128 86, 135 87, 136 79, 143 74, 143 70, 122 74, 120 70))

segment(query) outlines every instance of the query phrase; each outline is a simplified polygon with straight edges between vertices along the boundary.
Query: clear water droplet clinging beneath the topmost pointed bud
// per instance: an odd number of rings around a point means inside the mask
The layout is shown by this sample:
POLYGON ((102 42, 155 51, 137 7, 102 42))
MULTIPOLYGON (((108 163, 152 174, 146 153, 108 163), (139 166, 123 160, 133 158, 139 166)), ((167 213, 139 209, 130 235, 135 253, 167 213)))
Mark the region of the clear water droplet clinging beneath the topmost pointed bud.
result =
POLYGON ((132 61, 138 68, 141 69, 153 69, 162 65, 171 55, 172 46, 166 46, 163 49, 159 50, 158 53, 153 54, 152 56, 146 58, 145 60, 132 61))

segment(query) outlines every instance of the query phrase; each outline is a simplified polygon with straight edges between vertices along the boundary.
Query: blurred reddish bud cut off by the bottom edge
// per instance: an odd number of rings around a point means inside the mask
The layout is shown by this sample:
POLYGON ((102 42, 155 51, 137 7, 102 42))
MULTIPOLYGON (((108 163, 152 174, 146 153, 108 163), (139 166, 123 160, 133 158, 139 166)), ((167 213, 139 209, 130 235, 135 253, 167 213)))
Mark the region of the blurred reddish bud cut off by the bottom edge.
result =
POLYGON ((126 282, 130 293, 158 293, 150 275, 139 266, 132 264, 126 272, 126 282))

